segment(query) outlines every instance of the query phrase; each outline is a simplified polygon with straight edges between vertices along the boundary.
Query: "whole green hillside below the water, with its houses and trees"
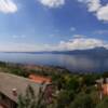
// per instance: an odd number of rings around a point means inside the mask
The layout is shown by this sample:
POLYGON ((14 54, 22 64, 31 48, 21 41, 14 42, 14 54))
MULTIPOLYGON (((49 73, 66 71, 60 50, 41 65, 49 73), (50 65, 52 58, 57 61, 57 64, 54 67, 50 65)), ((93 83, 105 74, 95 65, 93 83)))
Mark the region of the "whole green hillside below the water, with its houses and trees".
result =
POLYGON ((1 108, 107 108, 107 72, 9 63, 0 63, 0 71, 1 108))

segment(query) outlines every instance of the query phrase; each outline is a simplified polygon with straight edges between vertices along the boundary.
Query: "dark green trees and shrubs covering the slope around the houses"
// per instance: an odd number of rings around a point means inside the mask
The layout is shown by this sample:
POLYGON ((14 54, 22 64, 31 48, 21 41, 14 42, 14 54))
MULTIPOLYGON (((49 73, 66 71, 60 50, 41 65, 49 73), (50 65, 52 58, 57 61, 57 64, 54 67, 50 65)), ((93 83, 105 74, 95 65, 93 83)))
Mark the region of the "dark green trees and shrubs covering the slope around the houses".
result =
MULTIPOLYGON (((28 66, 29 67, 29 66, 28 66)), ((17 108, 107 108, 108 97, 99 103, 96 80, 108 78, 108 72, 103 73, 71 73, 63 68, 38 66, 25 68, 24 65, 0 62, 0 70, 21 77, 30 73, 48 76, 52 78, 58 94, 54 103, 46 105, 43 102, 43 93, 39 93, 38 99, 31 86, 28 86, 25 95, 19 95, 17 108)))

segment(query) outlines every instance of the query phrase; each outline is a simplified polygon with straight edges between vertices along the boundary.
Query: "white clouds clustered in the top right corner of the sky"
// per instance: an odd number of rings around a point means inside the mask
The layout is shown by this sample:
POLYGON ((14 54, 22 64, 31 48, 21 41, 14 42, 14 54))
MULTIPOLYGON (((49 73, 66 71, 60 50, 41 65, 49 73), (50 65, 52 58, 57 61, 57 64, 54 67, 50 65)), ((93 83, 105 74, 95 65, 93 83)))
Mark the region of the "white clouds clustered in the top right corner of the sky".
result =
POLYGON ((95 14, 98 21, 108 22, 108 4, 103 5, 100 0, 78 0, 86 4, 87 11, 95 14))

